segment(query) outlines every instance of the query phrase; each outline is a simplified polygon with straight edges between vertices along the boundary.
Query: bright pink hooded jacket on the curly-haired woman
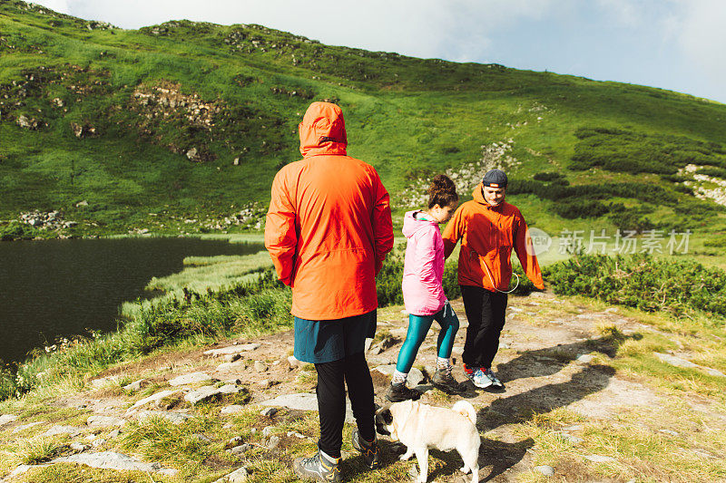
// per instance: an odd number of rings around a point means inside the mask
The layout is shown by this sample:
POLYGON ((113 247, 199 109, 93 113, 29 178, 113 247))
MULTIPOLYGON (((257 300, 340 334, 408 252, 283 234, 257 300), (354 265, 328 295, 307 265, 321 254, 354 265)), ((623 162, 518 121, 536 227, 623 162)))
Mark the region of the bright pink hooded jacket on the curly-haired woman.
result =
MULTIPOLYGON (((403 264, 403 300, 408 314, 433 315, 444 307, 444 241, 436 221, 416 218, 409 211, 403 220, 407 237, 403 264)), ((419 215, 420 216, 420 215, 419 215)))

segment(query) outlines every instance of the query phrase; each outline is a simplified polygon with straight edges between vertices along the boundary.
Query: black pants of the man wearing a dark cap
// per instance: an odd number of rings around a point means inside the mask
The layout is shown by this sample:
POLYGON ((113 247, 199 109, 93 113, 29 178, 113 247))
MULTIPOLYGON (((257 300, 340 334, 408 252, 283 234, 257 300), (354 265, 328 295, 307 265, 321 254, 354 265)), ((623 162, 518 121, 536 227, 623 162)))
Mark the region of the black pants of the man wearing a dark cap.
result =
POLYGON ((461 295, 469 321, 461 358, 467 366, 490 369, 505 326, 506 294, 461 285, 461 295))

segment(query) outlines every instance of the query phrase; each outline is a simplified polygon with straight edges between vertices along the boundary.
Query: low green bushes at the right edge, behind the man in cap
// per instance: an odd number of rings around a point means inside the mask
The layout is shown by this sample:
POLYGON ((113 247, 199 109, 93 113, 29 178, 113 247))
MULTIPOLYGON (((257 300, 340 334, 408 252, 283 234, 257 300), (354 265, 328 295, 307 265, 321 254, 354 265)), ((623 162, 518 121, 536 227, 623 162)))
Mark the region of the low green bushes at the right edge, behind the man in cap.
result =
POLYGON ((585 295, 609 304, 674 315, 704 312, 726 316, 726 272, 691 260, 666 260, 647 255, 579 255, 547 266, 554 293, 585 295))

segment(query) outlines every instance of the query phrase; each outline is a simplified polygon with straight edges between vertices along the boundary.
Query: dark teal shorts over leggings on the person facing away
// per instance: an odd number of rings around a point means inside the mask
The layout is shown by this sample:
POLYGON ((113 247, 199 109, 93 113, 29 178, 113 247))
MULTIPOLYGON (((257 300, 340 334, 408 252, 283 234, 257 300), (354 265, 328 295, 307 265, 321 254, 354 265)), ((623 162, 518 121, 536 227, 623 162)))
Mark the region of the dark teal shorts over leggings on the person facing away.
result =
POLYGON ((376 334, 377 311, 335 320, 306 320, 295 317, 295 358, 319 364, 339 361, 362 353, 366 338, 376 334))

